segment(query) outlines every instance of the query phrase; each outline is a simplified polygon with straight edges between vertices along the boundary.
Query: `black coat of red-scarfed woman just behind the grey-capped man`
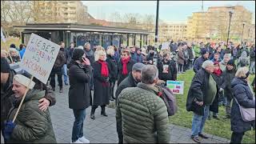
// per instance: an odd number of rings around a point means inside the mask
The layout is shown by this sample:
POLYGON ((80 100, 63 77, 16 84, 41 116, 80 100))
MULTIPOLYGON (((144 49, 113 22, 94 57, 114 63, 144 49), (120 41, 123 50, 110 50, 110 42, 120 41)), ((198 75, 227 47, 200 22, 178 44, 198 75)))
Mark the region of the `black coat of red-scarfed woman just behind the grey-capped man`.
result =
POLYGON ((120 61, 118 62, 118 86, 129 75, 134 66, 134 63, 135 62, 130 59, 130 61, 127 63, 128 74, 124 75, 122 74, 122 60, 120 59, 120 61))

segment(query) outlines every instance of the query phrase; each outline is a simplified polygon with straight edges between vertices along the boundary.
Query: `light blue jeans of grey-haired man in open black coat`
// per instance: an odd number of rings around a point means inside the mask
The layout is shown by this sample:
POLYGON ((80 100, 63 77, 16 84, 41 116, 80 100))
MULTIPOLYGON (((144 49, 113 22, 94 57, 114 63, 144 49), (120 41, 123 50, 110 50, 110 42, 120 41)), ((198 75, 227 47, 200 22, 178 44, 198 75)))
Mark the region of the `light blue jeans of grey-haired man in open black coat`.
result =
POLYGON ((204 115, 198 115, 194 113, 192 119, 192 134, 191 137, 198 137, 198 134, 202 134, 203 126, 206 123, 206 119, 209 115, 209 108, 210 106, 205 106, 204 108, 204 115))

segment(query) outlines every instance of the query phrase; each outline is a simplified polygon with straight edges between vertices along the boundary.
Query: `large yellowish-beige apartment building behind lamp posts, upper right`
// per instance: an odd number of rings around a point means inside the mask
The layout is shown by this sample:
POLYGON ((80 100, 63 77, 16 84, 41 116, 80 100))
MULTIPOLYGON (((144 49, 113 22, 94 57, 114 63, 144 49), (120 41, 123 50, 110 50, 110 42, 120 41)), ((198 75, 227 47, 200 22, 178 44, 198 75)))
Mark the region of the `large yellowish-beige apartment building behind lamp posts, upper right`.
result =
POLYGON ((188 38, 221 40, 227 39, 230 22, 230 40, 239 42, 242 41, 242 35, 243 39, 250 35, 248 32, 252 25, 252 13, 243 6, 213 6, 206 12, 193 13, 187 22, 188 38), (232 11, 231 19, 230 11, 232 11))

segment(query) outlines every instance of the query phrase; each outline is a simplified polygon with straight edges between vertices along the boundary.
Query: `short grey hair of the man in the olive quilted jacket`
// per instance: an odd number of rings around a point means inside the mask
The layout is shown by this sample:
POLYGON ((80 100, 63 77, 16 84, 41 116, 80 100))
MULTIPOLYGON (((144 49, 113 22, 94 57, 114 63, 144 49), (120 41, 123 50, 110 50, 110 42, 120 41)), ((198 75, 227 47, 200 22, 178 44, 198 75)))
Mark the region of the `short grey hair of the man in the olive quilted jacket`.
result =
POLYGON ((153 84, 158 78, 158 68, 154 65, 146 65, 142 69, 142 83, 153 84))

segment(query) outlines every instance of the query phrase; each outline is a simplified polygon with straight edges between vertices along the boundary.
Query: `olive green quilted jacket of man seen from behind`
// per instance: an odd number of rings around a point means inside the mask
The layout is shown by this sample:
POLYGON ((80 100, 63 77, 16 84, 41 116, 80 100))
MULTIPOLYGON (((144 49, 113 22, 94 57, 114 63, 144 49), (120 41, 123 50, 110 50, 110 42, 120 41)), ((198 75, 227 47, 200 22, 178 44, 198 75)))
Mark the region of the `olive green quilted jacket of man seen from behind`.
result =
POLYGON ((169 143, 169 118, 158 89, 143 83, 122 90, 116 107, 124 143, 169 143))

